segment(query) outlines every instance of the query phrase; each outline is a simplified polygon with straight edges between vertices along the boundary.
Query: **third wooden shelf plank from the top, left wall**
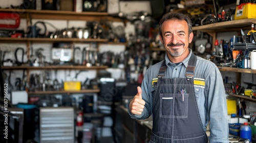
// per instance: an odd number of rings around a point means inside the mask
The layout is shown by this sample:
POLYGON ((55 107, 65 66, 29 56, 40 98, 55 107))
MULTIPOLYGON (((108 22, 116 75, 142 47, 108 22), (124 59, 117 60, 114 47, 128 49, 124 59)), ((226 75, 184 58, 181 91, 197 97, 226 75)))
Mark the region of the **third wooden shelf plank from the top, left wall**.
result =
POLYGON ((108 66, 53 65, 53 66, 2 66, 2 69, 106 69, 108 66))

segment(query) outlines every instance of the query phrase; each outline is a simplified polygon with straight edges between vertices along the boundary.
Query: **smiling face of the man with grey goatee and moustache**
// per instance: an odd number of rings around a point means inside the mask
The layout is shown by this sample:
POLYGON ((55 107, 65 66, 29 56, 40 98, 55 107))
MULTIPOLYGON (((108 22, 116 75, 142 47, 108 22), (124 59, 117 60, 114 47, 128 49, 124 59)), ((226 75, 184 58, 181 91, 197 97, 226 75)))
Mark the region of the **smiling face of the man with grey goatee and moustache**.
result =
POLYGON ((171 19, 162 24, 160 40, 167 50, 168 57, 185 59, 188 55, 188 44, 193 39, 193 33, 188 34, 185 20, 171 19))

